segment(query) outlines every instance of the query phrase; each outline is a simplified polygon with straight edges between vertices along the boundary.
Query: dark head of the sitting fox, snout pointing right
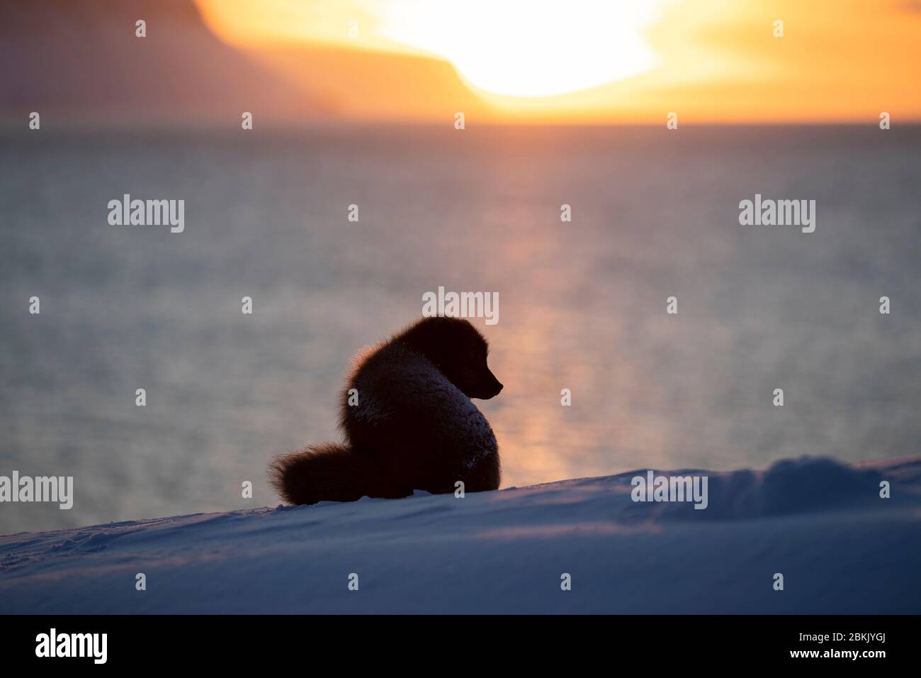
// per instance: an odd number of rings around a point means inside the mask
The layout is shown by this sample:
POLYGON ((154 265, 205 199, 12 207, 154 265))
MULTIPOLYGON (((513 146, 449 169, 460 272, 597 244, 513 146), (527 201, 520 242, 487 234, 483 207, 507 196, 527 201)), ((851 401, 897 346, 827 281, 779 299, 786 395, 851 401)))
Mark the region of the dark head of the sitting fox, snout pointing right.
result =
POLYGON ((467 398, 488 400, 502 390, 486 364, 489 345, 468 320, 442 315, 423 318, 396 340, 425 355, 467 398))

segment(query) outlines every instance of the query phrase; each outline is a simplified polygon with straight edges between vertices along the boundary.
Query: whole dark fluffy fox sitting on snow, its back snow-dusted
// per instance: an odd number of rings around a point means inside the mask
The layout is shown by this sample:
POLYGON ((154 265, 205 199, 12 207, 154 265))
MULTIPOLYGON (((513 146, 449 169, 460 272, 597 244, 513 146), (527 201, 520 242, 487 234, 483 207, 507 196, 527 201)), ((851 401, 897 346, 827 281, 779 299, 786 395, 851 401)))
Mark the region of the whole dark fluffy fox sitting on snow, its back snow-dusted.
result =
POLYGON ((495 490, 498 444, 471 401, 502 390, 488 352, 470 322, 435 316, 360 353, 341 397, 344 443, 275 458, 274 488, 291 504, 443 494, 459 481, 465 492, 495 490))

